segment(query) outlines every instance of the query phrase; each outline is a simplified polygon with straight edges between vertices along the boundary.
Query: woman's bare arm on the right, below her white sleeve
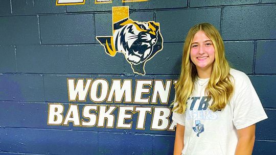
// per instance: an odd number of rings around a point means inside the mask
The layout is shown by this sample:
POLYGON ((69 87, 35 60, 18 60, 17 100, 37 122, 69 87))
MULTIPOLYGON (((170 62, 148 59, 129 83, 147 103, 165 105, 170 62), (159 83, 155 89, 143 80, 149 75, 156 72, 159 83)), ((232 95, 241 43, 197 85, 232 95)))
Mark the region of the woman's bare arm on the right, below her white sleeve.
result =
POLYGON ((238 144, 235 155, 251 155, 255 142, 255 128, 256 125, 242 128, 238 130, 238 144))

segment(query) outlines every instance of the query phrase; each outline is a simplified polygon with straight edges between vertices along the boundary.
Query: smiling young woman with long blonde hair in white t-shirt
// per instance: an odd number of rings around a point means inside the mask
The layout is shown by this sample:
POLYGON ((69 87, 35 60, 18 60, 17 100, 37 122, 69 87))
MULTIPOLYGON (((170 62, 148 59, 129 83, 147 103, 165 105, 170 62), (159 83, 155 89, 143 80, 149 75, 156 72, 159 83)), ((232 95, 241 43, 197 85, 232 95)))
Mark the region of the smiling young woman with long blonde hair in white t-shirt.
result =
POLYGON ((255 123, 267 116, 248 76, 229 67, 212 24, 190 29, 175 89, 174 154, 252 153, 255 123))

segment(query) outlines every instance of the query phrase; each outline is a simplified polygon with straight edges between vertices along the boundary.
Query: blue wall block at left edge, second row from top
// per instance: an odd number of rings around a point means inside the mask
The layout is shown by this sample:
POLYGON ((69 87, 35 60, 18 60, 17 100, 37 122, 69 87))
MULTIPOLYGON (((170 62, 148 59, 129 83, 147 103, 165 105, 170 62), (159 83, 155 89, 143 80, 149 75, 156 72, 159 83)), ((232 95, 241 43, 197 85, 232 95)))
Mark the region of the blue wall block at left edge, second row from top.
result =
POLYGON ((0 17, 0 45, 39 44, 37 16, 0 17))

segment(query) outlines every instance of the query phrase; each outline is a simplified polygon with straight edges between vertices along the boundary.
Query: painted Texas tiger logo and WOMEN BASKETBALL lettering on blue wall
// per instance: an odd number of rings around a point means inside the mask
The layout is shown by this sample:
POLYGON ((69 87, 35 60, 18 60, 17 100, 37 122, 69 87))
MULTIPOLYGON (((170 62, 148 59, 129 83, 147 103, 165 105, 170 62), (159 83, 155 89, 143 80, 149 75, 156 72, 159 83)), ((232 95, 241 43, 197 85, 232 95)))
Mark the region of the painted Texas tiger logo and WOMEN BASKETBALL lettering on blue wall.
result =
MULTIPOLYGON (((121 53, 133 73, 145 75, 146 62, 163 49, 160 24, 129 19, 129 7, 123 6, 112 7, 110 26, 112 36, 96 36, 104 47, 97 52, 105 51, 111 57, 121 53)), ((49 103, 48 125, 68 126, 72 123, 81 127, 174 131, 176 123, 171 121, 169 98, 172 98, 171 91, 174 91, 177 81, 162 76, 161 79, 157 76, 153 79, 141 77, 67 78, 68 101, 71 104, 49 103)))

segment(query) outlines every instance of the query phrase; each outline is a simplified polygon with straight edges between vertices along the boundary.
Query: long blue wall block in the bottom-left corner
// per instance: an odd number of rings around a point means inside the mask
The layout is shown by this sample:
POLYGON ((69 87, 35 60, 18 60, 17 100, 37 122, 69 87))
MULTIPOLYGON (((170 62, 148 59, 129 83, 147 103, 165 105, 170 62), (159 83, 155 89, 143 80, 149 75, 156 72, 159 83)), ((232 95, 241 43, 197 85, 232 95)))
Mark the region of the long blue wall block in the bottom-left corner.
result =
POLYGON ((33 128, 0 128, 1 150, 38 154, 98 154, 98 134, 33 128))

